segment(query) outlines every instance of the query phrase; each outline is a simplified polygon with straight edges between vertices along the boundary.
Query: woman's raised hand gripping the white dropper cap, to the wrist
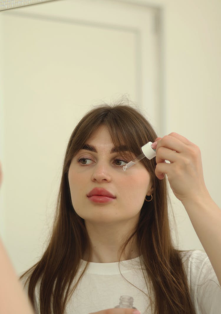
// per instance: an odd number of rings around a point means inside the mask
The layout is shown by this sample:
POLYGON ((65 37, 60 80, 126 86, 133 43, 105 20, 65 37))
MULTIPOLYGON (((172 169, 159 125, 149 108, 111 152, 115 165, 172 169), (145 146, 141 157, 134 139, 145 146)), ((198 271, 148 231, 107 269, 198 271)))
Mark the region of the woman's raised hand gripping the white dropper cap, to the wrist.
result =
POLYGON ((175 196, 184 202, 196 196, 205 196, 205 193, 208 195, 203 179, 201 153, 197 145, 177 133, 170 133, 155 141, 156 176, 163 179, 164 174, 167 175, 175 196))

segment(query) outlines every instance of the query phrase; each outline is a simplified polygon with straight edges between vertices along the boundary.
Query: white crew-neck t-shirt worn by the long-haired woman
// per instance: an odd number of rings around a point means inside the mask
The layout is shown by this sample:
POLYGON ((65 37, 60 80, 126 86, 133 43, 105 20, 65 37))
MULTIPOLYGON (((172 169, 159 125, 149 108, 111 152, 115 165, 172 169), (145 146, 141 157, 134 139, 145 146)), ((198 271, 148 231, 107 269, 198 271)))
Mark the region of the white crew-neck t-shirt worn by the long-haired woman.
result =
MULTIPOLYGON (((221 313, 221 288, 207 255, 196 250, 182 252, 181 257, 196 313, 221 313)), ((82 260, 79 273, 85 265, 86 262, 82 260)), ((108 308, 130 306, 137 308, 141 314, 151 314, 148 297, 132 284, 148 294, 139 257, 120 262, 120 270, 118 262, 89 263, 67 303, 66 314, 88 314, 108 308)), ((37 292, 35 297, 39 308, 37 292)))

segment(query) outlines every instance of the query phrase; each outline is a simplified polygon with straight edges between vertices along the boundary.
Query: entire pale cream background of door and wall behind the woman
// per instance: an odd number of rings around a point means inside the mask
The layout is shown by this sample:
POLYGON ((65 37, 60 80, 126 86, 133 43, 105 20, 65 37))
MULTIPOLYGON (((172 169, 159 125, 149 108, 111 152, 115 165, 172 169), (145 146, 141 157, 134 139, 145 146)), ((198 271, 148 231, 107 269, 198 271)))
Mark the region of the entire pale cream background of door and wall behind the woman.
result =
MULTIPOLYGON (((64 0, 0 13, 0 234, 17 273, 45 247, 69 136, 102 100, 126 94, 159 135, 196 143, 220 207, 220 14, 219 0, 64 0)), ((202 249, 172 205, 179 248, 202 249)))

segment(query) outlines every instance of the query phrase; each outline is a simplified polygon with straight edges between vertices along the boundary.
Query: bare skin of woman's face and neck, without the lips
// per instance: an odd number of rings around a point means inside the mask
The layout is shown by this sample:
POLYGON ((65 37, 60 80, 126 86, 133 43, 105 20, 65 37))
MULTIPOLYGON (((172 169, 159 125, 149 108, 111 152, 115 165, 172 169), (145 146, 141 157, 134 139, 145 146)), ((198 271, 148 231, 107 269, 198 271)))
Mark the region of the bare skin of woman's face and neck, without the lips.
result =
MULTIPOLYGON (((119 152, 111 153, 113 143, 105 126, 100 126, 86 144, 97 152, 80 150, 71 162, 68 180, 73 207, 85 220, 92 262, 117 262, 122 239, 137 225, 145 196, 151 194, 150 175, 141 163, 123 171, 131 154, 125 160, 119 152), (115 198, 108 203, 92 202, 87 195, 95 187, 105 188, 115 198)), ((122 259, 137 256, 136 243, 131 243, 122 259)))

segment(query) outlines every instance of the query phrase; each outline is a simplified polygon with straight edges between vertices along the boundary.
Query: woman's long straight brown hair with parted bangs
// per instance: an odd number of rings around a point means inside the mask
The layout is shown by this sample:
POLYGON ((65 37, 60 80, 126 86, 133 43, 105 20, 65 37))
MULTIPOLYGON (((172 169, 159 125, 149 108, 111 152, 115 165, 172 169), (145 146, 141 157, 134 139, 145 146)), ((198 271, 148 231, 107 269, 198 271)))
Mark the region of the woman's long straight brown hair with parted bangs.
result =
MULTIPOLYGON (((88 265, 72 287, 80 260, 86 253, 90 260, 90 241, 84 219, 76 214, 71 202, 68 170, 75 154, 101 124, 109 129, 116 147, 126 145, 135 155, 140 154, 141 146, 157 137, 144 116, 126 105, 95 107, 74 129, 64 158, 50 242, 40 261, 22 276, 27 279, 33 306, 36 306, 34 292, 36 286, 39 287, 40 314, 64 313, 67 301, 88 265)), ((173 247, 170 236, 166 182, 155 176, 155 159, 144 158, 141 162, 151 176, 153 201, 143 203, 137 228, 122 246, 123 250, 136 234, 145 265, 144 278, 153 287, 151 308, 154 314, 195 314, 180 251, 173 247)))

